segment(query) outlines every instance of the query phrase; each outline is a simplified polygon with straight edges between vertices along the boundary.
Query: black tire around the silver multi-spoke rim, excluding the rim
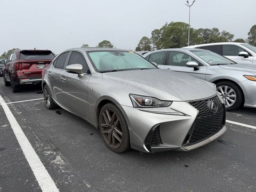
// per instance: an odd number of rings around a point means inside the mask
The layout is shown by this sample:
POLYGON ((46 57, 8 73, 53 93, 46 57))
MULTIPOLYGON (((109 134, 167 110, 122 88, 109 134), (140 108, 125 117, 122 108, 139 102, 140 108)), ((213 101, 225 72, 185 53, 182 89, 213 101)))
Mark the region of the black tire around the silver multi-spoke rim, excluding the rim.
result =
POLYGON ((242 102, 244 100, 244 95, 243 95, 242 90, 240 90, 240 87, 238 85, 236 85, 233 82, 222 81, 222 82, 216 83, 216 88, 218 88, 219 86, 229 86, 236 93, 236 102, 232 106, 226 107, 227 111, 236 110, 237 108, 239 108, 242 105, 242 102))

